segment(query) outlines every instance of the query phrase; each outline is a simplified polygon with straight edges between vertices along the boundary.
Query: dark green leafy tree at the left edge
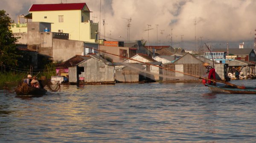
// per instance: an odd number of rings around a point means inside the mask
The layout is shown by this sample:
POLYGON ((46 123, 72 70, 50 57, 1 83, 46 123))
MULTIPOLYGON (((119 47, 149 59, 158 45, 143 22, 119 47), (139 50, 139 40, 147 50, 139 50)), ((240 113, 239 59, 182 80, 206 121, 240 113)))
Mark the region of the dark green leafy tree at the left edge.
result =
POLYGON ((0 64, 16 66, 17 58, 20 56, 13 36, 9 29, 13 20, 6 14, 6 11, 0 10, 0 64))

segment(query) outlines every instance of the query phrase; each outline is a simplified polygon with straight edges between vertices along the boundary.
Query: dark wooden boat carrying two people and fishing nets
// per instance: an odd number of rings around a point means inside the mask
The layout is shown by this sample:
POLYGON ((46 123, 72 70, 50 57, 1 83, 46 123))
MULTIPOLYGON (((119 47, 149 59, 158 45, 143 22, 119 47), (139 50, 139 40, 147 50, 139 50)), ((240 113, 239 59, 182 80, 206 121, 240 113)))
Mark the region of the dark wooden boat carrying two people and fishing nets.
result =
POLYGON ((16 97, 41 97, 47 92, 44 88, 36 88, 23 83, 15 88, 16 97))

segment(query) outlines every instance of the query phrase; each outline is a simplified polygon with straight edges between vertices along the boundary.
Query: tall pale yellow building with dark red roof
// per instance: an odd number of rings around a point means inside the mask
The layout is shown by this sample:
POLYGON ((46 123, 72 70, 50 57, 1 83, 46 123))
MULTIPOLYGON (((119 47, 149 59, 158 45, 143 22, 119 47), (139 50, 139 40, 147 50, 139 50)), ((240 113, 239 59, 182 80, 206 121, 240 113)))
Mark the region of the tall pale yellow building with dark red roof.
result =
MULTIPOLYGON (((51 32, 68 33, 69 39, 96 42, 99 26, 90 20, 90 12, 86 3, 33 4, 25 18, 32 22, 50 22, 51 32)), ((19 26, 13 24, 12 31, 27 31, 26 26, 19 26)))

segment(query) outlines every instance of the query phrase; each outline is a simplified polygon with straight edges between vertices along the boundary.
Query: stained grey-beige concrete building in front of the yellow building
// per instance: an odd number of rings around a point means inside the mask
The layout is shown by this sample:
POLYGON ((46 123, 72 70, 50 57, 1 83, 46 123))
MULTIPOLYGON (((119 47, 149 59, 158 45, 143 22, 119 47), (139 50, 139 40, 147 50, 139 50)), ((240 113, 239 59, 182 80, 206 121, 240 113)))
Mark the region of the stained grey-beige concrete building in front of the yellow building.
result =
MULTIPOLYGON (((27 33, 13 33, 15 37, 20 37, 16 44, 26 45, 27 49, 35 50, 38 53, 51 56, 55 63, 60 63, 70 59, 70 56, 85 55, 83 41, 68 40, 68 34, 61 33, 55 36, 55 32, 44 32, 44 27, 51 27, 47 22, 28 22, 27 33)), ((98 47, 98 44, 94 44, 98 47)))

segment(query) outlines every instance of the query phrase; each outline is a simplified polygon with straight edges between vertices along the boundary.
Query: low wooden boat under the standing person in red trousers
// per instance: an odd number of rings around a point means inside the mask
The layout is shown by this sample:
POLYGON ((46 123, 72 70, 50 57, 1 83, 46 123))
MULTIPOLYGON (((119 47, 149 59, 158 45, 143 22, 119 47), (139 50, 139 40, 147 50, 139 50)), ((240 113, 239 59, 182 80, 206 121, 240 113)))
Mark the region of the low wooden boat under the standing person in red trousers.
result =
POLYGON ((229 85, 215 86, 211 84, 205 84, 209 87, 213 93, 230 93, 230 94, 256 94, 256 87, 245 87, 239 89, 229 85))

